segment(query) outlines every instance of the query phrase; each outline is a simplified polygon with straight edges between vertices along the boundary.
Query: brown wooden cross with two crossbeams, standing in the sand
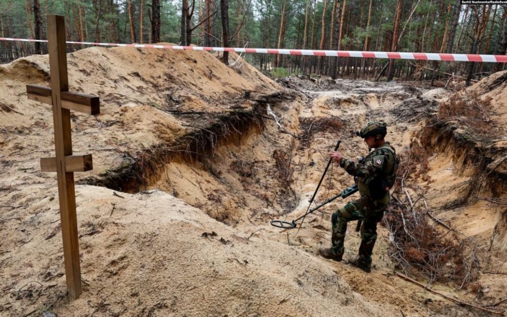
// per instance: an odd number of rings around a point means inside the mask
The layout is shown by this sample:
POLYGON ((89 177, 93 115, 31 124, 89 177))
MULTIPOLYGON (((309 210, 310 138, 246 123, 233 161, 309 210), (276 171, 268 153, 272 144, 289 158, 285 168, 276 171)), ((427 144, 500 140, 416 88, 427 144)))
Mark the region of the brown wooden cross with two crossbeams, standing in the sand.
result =
POLYGON ((65 278, 70 299, 76 299, 82 290, 73 172, 91 170, 93 165, 91 154, 72 155, 70 110, 97 115, 100 107, 96 96, 68 92, 65 19, 48 15, 47 25, 51 88, 27 85, 26 92, 28 99, 53 106, 56 157, 41 158, 41 170, 56 172, 58 178, 65 278))

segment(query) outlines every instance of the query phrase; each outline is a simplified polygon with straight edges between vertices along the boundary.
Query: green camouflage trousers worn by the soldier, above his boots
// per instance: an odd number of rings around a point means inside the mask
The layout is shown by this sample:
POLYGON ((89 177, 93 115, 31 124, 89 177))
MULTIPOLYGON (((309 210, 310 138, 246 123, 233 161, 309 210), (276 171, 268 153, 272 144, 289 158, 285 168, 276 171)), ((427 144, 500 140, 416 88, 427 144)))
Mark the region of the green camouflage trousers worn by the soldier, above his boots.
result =
POLYGON ((331 235, 331 251, 335 255, 343 255, 345 232, 347 222, 363 220, 361 227, 361 245, 359 246, 359 261, 368 267, 372 263, 372 252, 377 240, 377 223, 384 216, 384 209, 389 204, 389 195, 380 200, 371 200, 369 197, 361 198, 347 203, 331 216, 333 233, 331 235))

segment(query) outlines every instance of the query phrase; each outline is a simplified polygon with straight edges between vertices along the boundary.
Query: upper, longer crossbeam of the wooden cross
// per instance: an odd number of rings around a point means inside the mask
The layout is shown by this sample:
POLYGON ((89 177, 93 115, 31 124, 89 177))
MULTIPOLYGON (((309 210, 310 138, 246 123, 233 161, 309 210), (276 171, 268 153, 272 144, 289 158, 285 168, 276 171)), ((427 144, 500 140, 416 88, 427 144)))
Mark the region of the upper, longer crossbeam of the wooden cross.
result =
MULTIPOLYGON (((26 93, 30 100, 53 104, 51 88, 38 85, 26 85, 26 93)), ((78 111, 88 115, 98 115, 100 113, 100 102, 97 96, 62 91, 61 103, 64 109, 78 111)))

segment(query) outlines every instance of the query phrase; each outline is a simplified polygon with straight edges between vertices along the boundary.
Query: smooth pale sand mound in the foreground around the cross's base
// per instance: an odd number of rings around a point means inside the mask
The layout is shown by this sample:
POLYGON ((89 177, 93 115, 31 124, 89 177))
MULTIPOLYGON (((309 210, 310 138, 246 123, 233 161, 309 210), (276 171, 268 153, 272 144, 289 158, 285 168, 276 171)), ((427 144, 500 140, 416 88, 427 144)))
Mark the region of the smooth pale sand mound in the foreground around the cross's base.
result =
MULTIPOLYGON (((57 191, 46 193, 49 196, 28 208, 29 213, 48 209, 32 220, 35 223, 58 220, 58 202, 51 199, 57 191)), ((237 231, 162 191, 122 193, 121 198, 112 190, 78 186, 76 193, 85 292, 64 304, 61 239, 59 232, 52 235, 57 230, 48 228, 30 233, 30 241, 16 255, 23 259, 18 263, 24 267, 22 275, 30 274, 18 276, 19 285, 27 284, 21 292, 6 285, 5 307, 27 292, 39 295, 41 286, 30 283, 36 279, 50 290, 42 292, 40 307, 49 310, 54 305, 61 316, 394 313, 366 303, 322 260, 237 231)), ((9 313, 22 315, 25 309, 9 313)))

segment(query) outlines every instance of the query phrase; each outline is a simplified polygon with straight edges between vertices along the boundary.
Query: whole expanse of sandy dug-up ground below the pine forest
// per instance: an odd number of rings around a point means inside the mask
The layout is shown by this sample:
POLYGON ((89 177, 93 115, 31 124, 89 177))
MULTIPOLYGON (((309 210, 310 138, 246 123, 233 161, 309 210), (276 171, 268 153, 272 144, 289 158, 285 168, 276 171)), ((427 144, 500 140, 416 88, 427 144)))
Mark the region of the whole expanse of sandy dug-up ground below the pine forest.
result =
MULTIPOLYGON (((449 116, 456 98, 443 88, 273 81, 240 58, 227 67, 199 51, 88 48, 67 58, 70 91, 101 102, 100 115, 71 116, 74 154, 92 154, 94 167, 75 173, 83 294, 65 295, 56 175, 39 162, 54 155, 52 112, 25 89, 49 86, 48 57, 30 56, 0 65, 1 316, 491 314, 397 272, 505 310, 507 72, 466 90, 487 112, 476 126, 449 116), (444 263, 468 267, 464 283, 397 262, 384 225, 370 274, 349 263, 360 242, 355 224, 345 261, 319 257, 339 199, 300 230, 269 224, 304 214, 337 139, 345 157, 367 153, 354 131, 372 119, 387 122, 386 138, 405 158, 393 196, 404 205, 410 196, 407 215, 425 210, 435 243, 466 243, 444 263)), ((352 184, 333 164, 314 204, 352 184)))

